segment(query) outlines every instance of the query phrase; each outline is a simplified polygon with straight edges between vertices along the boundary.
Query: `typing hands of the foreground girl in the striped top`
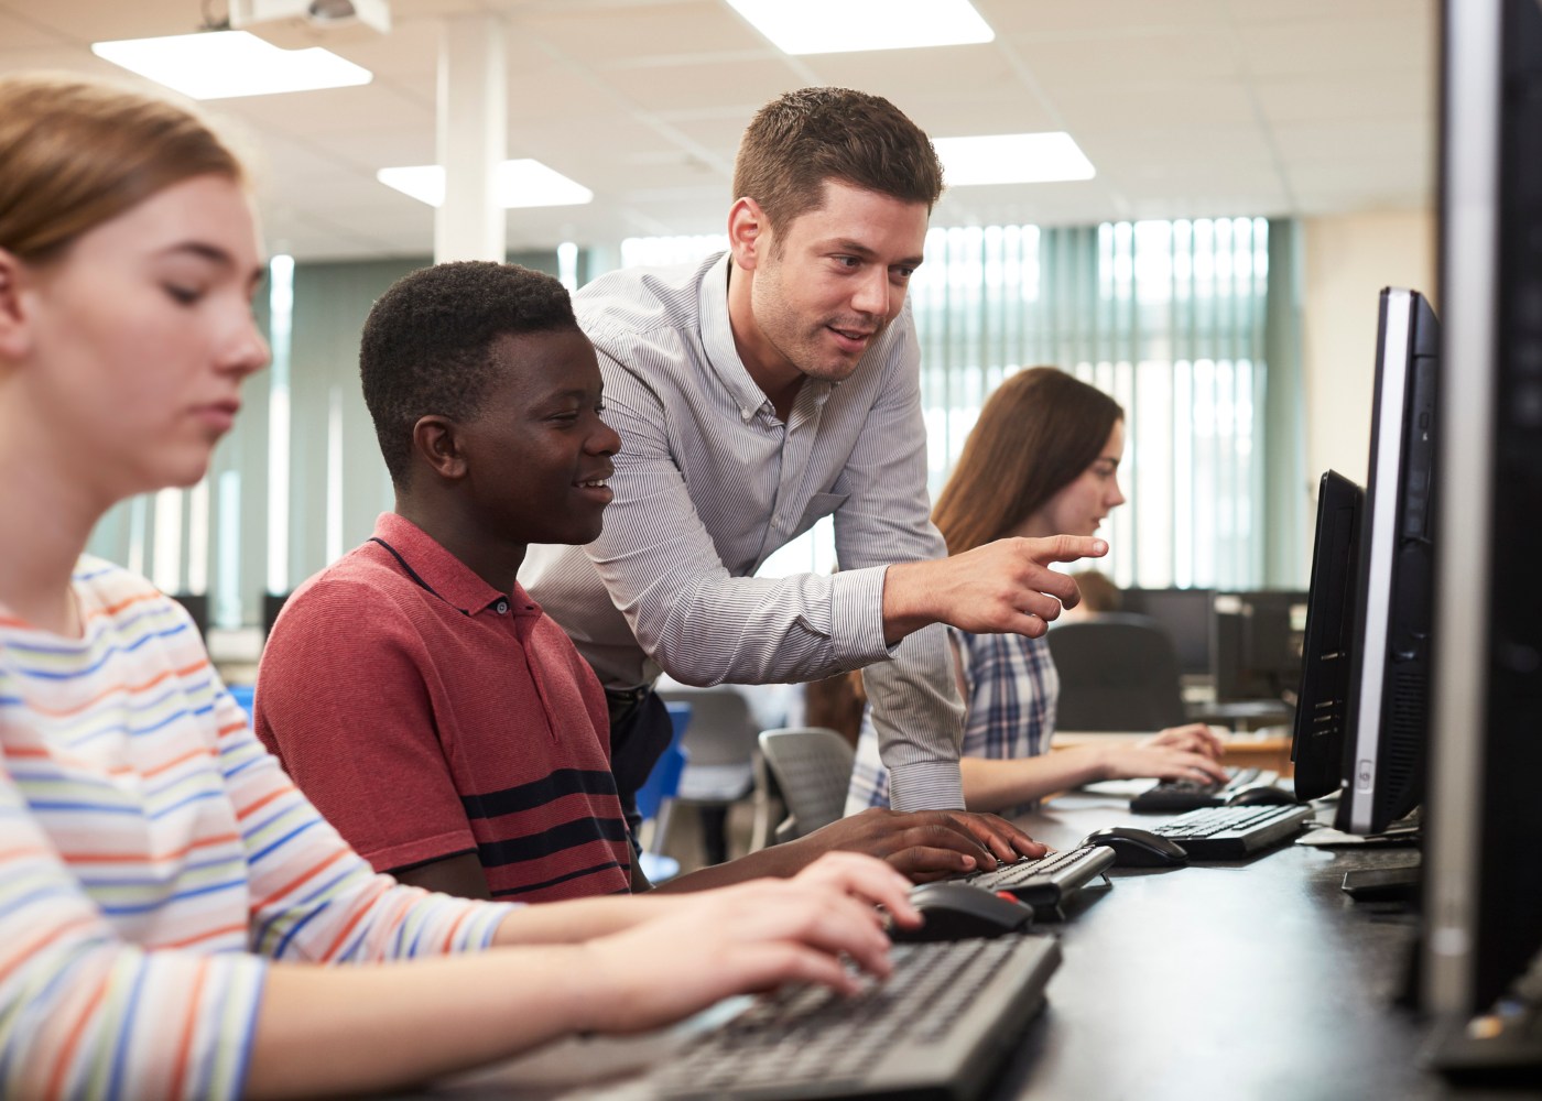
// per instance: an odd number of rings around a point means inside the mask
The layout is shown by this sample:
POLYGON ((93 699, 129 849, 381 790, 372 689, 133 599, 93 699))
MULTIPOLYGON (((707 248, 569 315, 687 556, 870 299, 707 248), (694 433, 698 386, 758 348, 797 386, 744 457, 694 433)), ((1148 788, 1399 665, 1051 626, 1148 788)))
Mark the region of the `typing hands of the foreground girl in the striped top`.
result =
POLYGON ((854 993, 842 964, 890 973, 888 936, 874 904, 921 922, 910 884, 856 853, 820 857, 793 879, 756 879, 671 899, 655 921, 584 944, 574 976, 588 1029, 652 1029, 739 993, 817 982, 854 993))

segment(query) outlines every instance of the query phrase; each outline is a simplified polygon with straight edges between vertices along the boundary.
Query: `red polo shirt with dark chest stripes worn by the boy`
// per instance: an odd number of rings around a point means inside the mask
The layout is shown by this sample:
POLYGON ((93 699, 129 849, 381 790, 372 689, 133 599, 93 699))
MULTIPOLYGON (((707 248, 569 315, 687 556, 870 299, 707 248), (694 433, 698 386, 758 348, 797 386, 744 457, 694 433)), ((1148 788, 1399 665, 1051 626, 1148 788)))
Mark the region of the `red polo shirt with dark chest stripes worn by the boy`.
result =
POLYGON ((594 672, 523 588, 402 517, 285 601, 256 729, 379 871, 476 853, 497 899, 628 890, 594 672))

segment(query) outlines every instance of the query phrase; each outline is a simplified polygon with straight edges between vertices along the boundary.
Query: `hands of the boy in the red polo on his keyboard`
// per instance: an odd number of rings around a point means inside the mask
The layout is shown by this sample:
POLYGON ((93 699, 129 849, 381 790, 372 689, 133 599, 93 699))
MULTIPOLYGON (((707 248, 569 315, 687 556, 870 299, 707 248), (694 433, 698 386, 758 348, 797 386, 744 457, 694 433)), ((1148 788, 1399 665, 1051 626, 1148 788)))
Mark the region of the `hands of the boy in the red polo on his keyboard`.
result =
POLYGON ((971 811, 894 811, 871 806, 831 822, 793 845, 876 856, 916 882, 995 868, 998 860, 1041 857, 1047 851, 995 814, 971 811))

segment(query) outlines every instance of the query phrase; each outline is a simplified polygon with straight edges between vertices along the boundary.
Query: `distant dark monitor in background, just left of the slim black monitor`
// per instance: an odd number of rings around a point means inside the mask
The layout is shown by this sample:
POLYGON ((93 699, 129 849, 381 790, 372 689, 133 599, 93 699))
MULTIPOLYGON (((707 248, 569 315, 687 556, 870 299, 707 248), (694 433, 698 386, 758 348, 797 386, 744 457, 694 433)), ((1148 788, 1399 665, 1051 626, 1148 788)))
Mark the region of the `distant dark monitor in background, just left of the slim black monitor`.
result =
POLYGON ((1217 592, 1210 652, 1217 700, 1295 702, 1308 594, 1292 589, 1217 592))

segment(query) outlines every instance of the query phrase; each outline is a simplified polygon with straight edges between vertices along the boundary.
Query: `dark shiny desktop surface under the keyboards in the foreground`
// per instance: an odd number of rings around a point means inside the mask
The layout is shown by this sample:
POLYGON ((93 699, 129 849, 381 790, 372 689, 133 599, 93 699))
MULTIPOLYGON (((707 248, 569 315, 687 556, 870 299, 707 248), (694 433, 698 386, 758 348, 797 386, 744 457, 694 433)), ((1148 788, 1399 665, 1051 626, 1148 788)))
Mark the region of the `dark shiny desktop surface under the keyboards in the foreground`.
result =
MULTIPOLYGON (((1119 797, 1072 793, 1022 825, 1070 847, 1099 827, 1160 820, 1130 814, 1119 797)), ((1513 1101, 1519 1095, 1454 1090, 1420 1069, 1425 1030, 1394 1004, 1414 916, 1340 890, 1346 870, 1412 860, 1411 850, 1286 845, 1234 864, 1112 870, 1112 887, 1084 891, 1067 921, 1039 925, 1061 938, 1064 962, 987 1096, 1513 1101)), ((534 1067, 504 1064, 492 1079, 433 1096, 631 1098, 625 1078, 569 1089, 564 1075, 668 1058, 669 1045, 649 1052, 649 1042, 569 1042, 534 1067)))

